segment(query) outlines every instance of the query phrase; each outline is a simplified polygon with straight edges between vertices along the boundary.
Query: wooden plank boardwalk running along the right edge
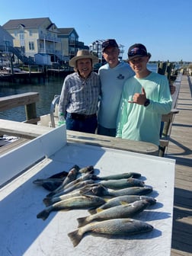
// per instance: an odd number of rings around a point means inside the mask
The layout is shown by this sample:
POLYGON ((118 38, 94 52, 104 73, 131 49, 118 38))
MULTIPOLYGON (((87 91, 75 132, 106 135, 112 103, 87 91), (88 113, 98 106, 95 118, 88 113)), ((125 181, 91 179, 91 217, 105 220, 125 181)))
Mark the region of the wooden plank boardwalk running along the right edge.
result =
POLYGON ((171 256, 192 255, 192 77, 183 75, 165 157, 176 159, 171 256))

